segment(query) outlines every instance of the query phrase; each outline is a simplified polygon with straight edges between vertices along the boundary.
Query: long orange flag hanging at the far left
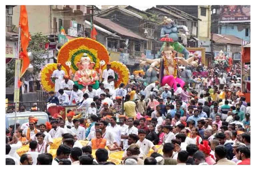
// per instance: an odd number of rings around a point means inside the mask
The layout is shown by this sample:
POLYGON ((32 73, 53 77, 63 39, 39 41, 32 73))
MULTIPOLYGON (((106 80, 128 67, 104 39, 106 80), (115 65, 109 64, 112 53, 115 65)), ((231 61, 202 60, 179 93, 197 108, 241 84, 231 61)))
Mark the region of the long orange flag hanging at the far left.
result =
POLYGON ((29 58, 28 58, 28 52, 27 47, 29 44, 29 41, 31 40, 29 31, 28 31, 28 14, 26 10, 25 5, 20 6, 20 22, 19 26, 21 29, 20 32, 20 42, 21 42, 21 48, 23 51, 23 57, 22 57, 22 65, 21 65, 21 72, 20 77, 23 76, 23 74, 26 72, 28 66, 29 66, 29 58))

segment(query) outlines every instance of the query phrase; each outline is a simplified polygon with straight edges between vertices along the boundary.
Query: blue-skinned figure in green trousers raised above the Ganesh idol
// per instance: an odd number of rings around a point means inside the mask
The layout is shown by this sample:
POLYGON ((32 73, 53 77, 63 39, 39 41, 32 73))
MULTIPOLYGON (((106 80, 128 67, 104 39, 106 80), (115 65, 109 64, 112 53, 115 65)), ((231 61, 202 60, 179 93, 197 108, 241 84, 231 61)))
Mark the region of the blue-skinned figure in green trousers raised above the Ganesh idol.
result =
MULTIPOLYGON (((163 28, 161 29, 161 38, 171 38, 173 40, 173 42, 170 43, 171 46, 173 46, 175 51, 178 51, 179 53, 182 53, 185 57, 185 59, 188 59, 189 57, 189 51, 178 42, 179 37, 178 37, 178 30, 182 29, 183 31, 185 31, 186 35, 189 35, 189 31, 188 28, 186 26, 177 26, 173 20, 171 20, 170 18, 164 17, 163 18, 163 28)), ((161 39, 161 40, 162 40, 161 39)), ((164 45, 167 42, 165 42, 163 44, 163 46, 161 47, 160 51, 163 50, 164 45)))

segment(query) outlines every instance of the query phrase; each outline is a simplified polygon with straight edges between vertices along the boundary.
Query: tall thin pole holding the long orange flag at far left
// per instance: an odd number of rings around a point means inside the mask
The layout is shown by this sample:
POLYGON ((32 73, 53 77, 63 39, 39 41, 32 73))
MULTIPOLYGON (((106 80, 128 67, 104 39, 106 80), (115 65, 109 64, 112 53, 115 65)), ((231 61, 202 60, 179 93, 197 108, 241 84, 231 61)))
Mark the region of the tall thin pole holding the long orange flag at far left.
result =
POLYGON ((16 131, 16 116, 17 116, 17 100, 19 99, 19 90, 18 90, 18 82, 19 82, 19 75, 20 75, 20 56, 19 56, 19 51, 20 51, 20 31, 21 28, 19 26, 19 38, 18 38, 18 56, 16 58, 15 62, 15 85, 14 85, 14 99, 15 99, 15 117, 14 117, 14 132, 16 131))

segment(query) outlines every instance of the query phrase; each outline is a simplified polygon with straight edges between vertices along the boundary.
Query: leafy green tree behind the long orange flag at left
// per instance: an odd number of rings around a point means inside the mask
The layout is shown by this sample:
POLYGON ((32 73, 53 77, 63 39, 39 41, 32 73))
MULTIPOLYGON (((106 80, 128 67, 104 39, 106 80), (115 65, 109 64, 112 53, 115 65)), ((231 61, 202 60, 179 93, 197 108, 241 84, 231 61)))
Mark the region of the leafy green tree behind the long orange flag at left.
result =
MULTIPOLYGON (((49 40, 47 36, 43 36, 42 33, 35 33, 31 37, 31 41, 29 42, 29 46, 27 51, 31 51, 34 59, 30 63, 33 65, 34 70, 32 73, 28 71, 22 76, 23 78, 27 78, 28 76, 35 75, 38 73, 42 66, 44 66, 47 58, 44 56, 47 55, 47 50, 45 49, 45 44, 48 43, 49 40)), ((14 84, 14 74, 15 74, 15 60, 13 59, 9 64, 6 65, 6 87, 14 84)))

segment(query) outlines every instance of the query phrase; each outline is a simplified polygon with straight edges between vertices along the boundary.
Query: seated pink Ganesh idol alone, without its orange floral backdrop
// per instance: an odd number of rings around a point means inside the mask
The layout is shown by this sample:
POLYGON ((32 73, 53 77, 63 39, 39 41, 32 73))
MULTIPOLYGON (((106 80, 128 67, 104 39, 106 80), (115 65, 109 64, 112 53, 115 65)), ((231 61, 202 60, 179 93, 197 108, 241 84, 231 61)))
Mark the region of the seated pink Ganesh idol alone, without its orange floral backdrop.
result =
POLYGON ((78 70, 74 75, 74 84, 78 85, 79 89, 92 84, 93 88, 99 87, 99 77, 95 70, 93 70, 94 62, 87 56, 86 53, 81 57, 77 64, 78 70))

